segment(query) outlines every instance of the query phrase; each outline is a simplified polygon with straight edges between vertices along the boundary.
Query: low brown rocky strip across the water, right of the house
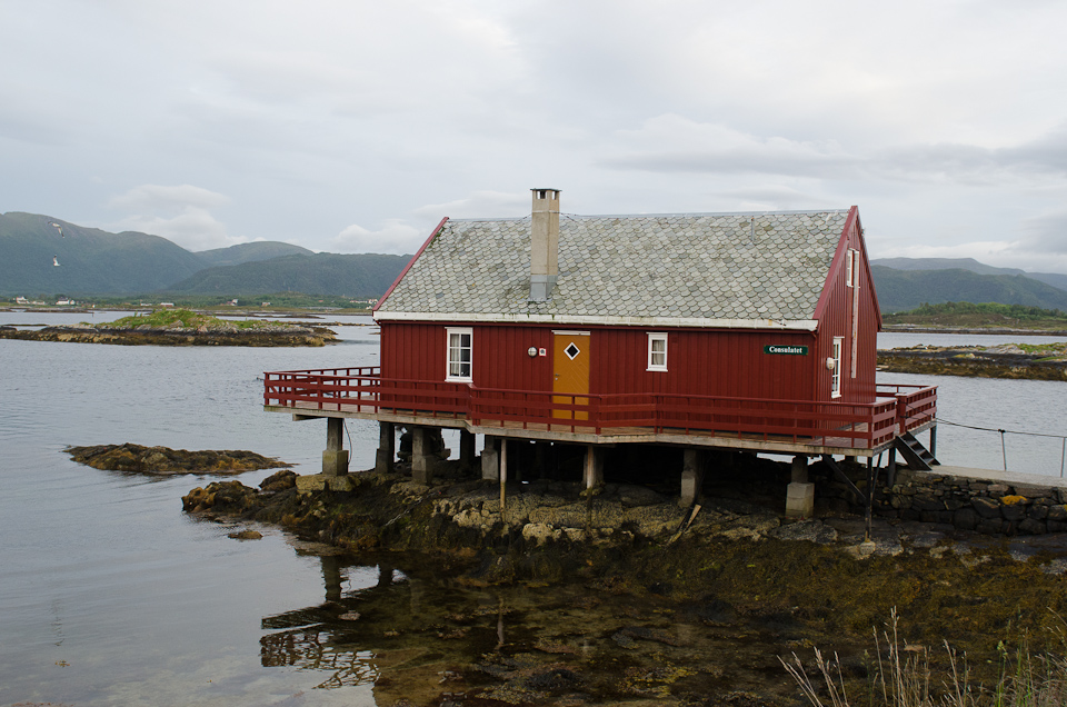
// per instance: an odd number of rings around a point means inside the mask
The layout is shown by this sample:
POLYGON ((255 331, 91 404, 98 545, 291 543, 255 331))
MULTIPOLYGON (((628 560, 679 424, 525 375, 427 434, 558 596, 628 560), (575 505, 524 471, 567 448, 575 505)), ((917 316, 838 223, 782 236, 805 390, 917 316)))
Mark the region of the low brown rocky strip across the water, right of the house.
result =
POLYGON ((878 351, 878 370, 928 376, 1067 380, 1067 345, 915 346, 878 351))

